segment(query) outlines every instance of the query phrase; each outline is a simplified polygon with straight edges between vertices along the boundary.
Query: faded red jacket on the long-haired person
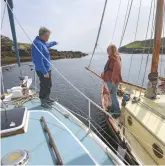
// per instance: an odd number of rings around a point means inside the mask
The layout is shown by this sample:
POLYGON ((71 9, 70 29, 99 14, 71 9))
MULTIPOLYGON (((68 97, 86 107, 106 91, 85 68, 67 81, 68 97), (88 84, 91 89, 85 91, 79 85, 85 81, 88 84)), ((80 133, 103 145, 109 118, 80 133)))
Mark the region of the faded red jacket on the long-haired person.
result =
MULTIPOLYGON (((122 82, 121 76, 121 57, 109 56, 108 70, 104 71, 102 78, 104 81, 111 81, 115 84, 122 82)), ((107 61, 107 62, 108 62, 107 61)))

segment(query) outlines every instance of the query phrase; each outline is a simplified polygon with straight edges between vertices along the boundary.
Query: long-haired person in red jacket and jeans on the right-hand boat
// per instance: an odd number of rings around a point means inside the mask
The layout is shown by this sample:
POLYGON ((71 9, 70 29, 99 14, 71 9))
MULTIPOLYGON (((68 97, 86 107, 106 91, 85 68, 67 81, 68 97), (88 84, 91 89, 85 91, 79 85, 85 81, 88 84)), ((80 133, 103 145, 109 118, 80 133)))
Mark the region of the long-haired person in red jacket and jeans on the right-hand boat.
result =
POLYGON ((115 45, 109 45, 107 48, 108 60, 104 67, 101 77, 106 82, 112 105, 110 111, 114 117, 120 116, 120 106, 117 99, 119 83, 122 82, 121 76, 121 57, 115 45))

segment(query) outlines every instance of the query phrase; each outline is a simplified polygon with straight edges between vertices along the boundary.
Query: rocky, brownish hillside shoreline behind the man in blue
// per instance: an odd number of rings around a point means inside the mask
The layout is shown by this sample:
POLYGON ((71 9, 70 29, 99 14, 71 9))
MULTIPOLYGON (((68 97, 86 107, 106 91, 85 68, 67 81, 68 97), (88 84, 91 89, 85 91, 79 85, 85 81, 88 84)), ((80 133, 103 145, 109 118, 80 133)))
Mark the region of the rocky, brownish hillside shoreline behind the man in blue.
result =
MULTIPOLYGON (((31 61, 31 45, 28 43, 18 43, 21 62, 31 61)), ((80 58, 87 54, 80 51, 57 51, 50 49, 51 59, 80 58)), ((16 63, 16 56, 13 41, 1 35, 1 64, 16 63)))

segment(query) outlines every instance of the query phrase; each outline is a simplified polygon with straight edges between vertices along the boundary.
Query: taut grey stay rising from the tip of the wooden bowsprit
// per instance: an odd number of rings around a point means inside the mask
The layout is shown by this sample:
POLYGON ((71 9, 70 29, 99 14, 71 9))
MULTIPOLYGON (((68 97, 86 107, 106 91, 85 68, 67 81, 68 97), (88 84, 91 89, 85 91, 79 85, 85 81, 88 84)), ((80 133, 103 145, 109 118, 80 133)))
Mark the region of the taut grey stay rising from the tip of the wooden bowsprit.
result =
POLYGON ((96 50, 96 47, 97 47, 97 42, 98 42, 98 40, 99 40, 100 31, 101 31, 101 27, 102 27, 102 23, 103 23, 103 19, 104 19, 104 13, 105 13, 106 6, 107 6, 107 0, 105 0, 104 9, 103 9, 103 13, 102 13, 101 21, 100 21, 100 26, 99 26, 99 30, 98 30, 96 42, 95 42, 95 46, 94 46, 94 49, 93 49, 93 52, 92 52, 92 57, 91 57, 91 59, 90 59, 88 68, 90 68, 90 65, 91 65, 91 62, 92 62, 92 59, 93 59, 93 55, 94 55, 95 50, 96 50))

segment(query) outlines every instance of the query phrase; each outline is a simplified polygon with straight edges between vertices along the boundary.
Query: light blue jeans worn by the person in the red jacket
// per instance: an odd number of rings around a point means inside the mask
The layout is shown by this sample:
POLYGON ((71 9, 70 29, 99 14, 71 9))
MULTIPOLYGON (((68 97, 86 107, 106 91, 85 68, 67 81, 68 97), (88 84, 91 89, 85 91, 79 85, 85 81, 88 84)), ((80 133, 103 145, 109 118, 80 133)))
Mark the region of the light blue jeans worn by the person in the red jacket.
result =
POLYGON ((110 97, 112 100, 112 105, 111 105, 111 112, 112 114, 120 114, 120 106, 119 106, 119 101, 117 99, 117 90, 119 84, 112 84, 111 81, 106 81, 109 92, 110 92, 110 97))

